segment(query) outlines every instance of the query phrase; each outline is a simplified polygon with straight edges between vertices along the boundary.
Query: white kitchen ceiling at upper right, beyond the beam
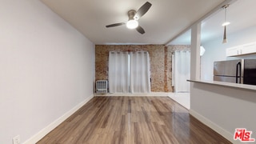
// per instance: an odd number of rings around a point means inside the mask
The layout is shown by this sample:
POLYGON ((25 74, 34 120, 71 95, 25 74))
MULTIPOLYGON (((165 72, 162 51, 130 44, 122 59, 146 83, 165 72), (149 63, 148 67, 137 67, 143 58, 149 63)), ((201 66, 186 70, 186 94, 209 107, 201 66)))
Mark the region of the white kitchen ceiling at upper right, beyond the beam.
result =
MULTIPOLYGON (((235 1, 226 9, 226 20, 230 22, 227 27, 227 37, 240 30, 245 30, 250 26, 256 26, 256 9, 255 0, 235 1)), ((215 38, 223 37, 225 11, 219 9, 215 14, 202 21, 201 43, 209 42, 215 38)), ((187 30, 185 33, 175 38, 170 42, 170 45, 190 45, 191 31, 187 30)))

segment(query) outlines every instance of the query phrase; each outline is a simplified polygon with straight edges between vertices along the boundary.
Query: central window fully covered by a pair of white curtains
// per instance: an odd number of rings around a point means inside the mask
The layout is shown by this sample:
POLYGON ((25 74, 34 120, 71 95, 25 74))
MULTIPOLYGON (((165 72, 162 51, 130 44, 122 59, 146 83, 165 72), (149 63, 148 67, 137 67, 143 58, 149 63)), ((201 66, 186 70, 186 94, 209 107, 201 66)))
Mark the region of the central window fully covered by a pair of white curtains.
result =
POLYGON ((150 93, 150 58, 148 52, 113 52, 109 54, 110 93, 150 93))

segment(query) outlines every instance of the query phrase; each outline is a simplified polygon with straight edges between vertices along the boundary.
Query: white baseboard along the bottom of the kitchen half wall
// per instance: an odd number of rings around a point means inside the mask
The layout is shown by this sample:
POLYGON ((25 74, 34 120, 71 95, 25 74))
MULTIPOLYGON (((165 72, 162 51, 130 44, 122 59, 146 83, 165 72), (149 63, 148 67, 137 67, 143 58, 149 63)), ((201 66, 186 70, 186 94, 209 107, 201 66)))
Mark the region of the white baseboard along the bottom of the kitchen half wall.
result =
POLYGON ((233 134, 230 134, 227 130, 224 130, 221 126, 218 126, 214 122, 211 122, 208 118, 203 117, 201 114, 198 114, 194 110, 190 110, 190 114, 197 118, 200 122, 204 123, 206 126, 209 126, 212 130, 216 131, 218 134, 221 134, 222 137, 226 138, 232 143, 240 143, 240 141, 234 141, 233 134))

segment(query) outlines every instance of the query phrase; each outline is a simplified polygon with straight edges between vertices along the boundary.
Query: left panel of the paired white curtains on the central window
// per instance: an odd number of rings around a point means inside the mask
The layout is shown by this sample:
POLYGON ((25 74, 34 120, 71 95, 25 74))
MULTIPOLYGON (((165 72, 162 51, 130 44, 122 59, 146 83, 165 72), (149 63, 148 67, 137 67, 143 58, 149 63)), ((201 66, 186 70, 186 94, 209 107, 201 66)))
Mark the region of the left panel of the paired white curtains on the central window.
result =
POLYGON ((109 90, 110 93, 129 92, 129 55, 128 52, 109 54, 109 90))

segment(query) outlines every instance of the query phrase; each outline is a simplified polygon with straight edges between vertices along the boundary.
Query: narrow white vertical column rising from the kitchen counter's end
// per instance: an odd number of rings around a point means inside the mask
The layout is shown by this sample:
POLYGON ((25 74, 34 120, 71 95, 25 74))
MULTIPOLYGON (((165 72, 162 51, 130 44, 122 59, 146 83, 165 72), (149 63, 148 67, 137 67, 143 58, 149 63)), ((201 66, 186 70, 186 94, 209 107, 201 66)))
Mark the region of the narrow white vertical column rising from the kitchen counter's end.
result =
POLYGON ((190 79, 200 80, 201 22, 191 27, 190 79))

